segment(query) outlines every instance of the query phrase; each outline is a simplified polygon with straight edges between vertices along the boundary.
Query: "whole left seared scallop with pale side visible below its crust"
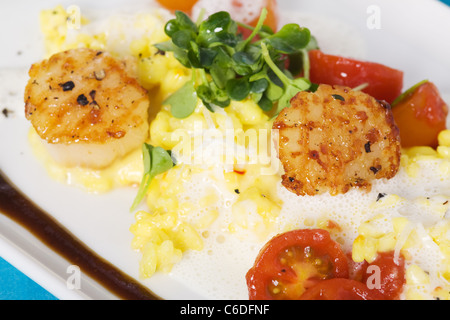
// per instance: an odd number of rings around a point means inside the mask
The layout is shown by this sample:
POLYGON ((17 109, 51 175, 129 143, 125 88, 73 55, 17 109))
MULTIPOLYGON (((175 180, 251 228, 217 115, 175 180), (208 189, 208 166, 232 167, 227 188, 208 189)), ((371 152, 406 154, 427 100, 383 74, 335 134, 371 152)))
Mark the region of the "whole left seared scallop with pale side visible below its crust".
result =
POLYGON ((79 48, 33 64, 25 116, 66 166, 102 168, 148 136, 149 98, 131 63, 79 48))

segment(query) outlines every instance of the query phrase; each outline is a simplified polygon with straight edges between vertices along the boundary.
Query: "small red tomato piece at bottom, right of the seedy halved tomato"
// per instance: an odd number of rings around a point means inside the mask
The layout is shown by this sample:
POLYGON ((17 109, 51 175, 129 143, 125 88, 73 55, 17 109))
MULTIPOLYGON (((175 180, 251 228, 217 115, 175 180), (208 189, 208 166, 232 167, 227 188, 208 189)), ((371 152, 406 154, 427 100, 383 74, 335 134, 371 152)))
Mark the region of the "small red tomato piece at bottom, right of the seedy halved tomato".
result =
POLYGON ((404 258, 400 255, 396 262, 393 251, 379 252, 377 258, 362 270, 361 282, 369 288, 374 287, 372 290, 380 292, 386 299, 398 299, 405 284, 404 258))

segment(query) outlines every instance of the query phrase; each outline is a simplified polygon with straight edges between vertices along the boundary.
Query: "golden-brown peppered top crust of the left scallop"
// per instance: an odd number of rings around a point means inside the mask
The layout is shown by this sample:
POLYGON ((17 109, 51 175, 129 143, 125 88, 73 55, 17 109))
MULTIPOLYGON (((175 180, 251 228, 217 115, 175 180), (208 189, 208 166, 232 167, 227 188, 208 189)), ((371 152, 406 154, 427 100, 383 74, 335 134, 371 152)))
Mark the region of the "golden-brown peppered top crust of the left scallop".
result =
POLYGON ((33 64, 25 116, 49 143, 120 139, 147 121, 147 92, 124 62, 106 52, 74 49, 33 64))

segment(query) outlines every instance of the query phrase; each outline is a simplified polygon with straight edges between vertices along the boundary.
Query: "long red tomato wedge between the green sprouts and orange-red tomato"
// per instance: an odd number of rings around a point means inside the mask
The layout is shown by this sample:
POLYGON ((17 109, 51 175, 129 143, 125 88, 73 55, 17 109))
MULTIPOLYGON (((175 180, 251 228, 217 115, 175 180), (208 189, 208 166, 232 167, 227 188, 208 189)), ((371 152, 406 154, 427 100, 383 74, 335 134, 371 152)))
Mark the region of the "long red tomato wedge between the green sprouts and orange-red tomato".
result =
POLYGON ((367 83, 367 94, 392 103, 403 88, 403 72, 385 65, 309 51, 310 80, 317 84, 342 85, 350 88, 367 83))

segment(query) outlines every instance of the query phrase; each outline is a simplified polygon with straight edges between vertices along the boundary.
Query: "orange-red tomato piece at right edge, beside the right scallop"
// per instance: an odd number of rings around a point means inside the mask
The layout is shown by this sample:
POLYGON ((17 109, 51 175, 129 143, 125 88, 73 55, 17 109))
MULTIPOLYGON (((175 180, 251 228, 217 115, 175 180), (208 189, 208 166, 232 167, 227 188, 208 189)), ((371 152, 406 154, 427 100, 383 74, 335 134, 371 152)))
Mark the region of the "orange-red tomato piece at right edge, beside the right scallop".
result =
POLYGON ((414 88, 392 106, 404 148, 438 145, 438 134, 446 129, 448 106, 432 82, 414 88))

